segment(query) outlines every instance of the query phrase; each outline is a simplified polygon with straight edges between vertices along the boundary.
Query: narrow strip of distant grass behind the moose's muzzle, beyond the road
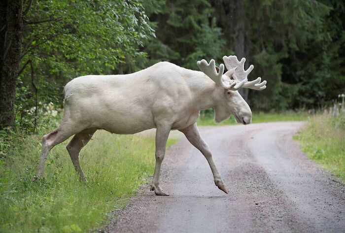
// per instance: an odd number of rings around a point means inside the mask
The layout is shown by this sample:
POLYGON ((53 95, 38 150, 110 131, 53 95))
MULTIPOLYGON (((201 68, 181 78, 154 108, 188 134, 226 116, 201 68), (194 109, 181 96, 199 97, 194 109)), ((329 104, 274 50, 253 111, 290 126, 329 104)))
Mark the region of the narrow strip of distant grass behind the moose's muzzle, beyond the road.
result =
MULTIPOLYGON (((253 112, 252 114, 252 123, 261 123, 261 122, 274 122, 274 121, 306 121, 308 115, 305 112, 293 112, 286 111, 281 113, 263 113, 263 112, 253 112)), ((237 124, 234 116, 231 116, 230 119, 217 124, 213 120, 213 116, 210 115, 201 115, 197 121, 198 126, 215 126, 215 125, 231 125, 237 124)))

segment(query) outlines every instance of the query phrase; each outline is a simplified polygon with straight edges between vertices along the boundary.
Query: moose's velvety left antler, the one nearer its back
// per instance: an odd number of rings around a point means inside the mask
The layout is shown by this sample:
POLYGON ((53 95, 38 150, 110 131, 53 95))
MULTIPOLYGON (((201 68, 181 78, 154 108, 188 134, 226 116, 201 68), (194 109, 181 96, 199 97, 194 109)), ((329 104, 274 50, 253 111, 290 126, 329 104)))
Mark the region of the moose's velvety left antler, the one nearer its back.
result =
MULTIPOLYGON (((239 82, 235 80, 230 80, 230 84, 227 85, 223 82, 223 72, 224 72, 224 65, 220 64, 220 67, 215 66, 215 62, 212 59, 209 64, 207 64, 207 61, 205 59, 198 61, 197 62, 198 67, 203 71, 210 79, 212 79, 216 84, 220 85, 221 87, 227 89, 227 90, 232 90, 232 91, 237 91, 239 88, 241 88, 247 79, 241 80, 239 82)), ((233 67, 229 69, 226 74, 231 77, 237 69, 236 67, 233 67)))

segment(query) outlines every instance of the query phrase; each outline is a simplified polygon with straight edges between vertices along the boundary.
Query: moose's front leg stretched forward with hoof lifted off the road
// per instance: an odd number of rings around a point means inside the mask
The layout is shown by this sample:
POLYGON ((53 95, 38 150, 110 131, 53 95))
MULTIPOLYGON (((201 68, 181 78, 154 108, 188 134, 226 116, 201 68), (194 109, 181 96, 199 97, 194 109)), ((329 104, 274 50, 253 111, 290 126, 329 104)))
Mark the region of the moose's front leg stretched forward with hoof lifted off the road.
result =
POLYGON ((193 125, 188 126, 187 128, 180 131, 184 133, 188 141, 198 150, 200 150, 200 152, 205 156, 213 174, 214 184, 224 193, 228 193, 228 190, 223 183, 223 179, 220 176, 217 167, 214 165, 211 151, 209 150, 207 143, 200 136, 197 124, 194 123, 193 125))

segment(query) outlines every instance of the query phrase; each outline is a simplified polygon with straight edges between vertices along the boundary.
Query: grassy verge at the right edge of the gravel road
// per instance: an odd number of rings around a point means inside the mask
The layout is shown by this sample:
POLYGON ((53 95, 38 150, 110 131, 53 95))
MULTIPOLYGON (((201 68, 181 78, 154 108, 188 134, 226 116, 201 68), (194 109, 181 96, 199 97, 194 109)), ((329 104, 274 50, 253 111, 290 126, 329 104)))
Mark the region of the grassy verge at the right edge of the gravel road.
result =
POLYGON ((345 116, 316 115, 295 137, 310 159, 345 182, 345 116))

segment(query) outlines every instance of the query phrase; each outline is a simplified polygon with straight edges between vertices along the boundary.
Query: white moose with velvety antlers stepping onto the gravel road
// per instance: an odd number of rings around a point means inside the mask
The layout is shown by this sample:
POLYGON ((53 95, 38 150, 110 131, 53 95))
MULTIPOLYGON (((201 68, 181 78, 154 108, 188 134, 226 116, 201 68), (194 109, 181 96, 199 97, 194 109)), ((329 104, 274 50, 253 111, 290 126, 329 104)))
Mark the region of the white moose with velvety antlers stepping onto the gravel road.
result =
POLYGON ((37 175, 43 174, 49 151, 71 135, 66 146, 82 181, 86 181, 79 165, 79 152, 100 129, 110 133, 132 134, 156 128, 156 167, 150 190, 167 196, 159 186, 159 173, 171 130, 179 130, 207 159, 215 185, 228 193, 212 160, 206 142, 201 138, 196 121, 200 110, 214 108, 215 121, 234 114, 244 125, 251 122, 251 110, 239 88, 263 90, 261 78, 247 81, 253 69, 244 70, 236 56, 224 56, 224 65, 215 66, 212 59, 198 61, 203 72, 160 62, 152 67, 126 75, 88 75, 71 80, 65 87, 65 112, 58 129, 43 136, 37 175))

